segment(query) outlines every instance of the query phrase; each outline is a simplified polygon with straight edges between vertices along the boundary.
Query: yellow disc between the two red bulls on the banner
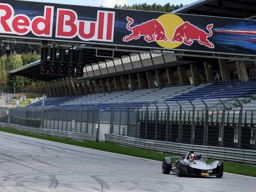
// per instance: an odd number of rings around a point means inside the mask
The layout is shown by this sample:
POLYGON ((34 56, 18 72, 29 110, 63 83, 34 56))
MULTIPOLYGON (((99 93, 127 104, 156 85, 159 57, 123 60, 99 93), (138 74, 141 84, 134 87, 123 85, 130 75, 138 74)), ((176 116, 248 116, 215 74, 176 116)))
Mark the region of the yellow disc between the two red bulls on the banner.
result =
POLYGON ((157 18, 159 22, 163 25, 165 29, 166 37, 168 38, 168 42, 157 41, 157 44, 164 48, 173 49, 179 47, 182 43, 180 42, 171 42, 171 38, 175 32, 175 29, 180 26, 180 24, 184 23, 178 15, 174 15, 172 13, 166 13, 157 18))

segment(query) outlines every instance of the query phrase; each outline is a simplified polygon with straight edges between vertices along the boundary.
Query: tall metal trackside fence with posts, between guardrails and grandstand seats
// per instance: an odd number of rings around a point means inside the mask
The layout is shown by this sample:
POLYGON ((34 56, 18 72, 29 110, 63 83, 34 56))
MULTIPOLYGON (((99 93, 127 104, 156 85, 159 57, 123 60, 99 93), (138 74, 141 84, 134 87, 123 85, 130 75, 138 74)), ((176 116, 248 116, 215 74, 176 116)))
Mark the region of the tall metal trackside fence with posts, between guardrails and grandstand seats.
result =
POLYGON ((256 111, 159 108, 157 104, 0 108, 0 121, 45 129, 105 133, 192 145, 256 149, 256 111))

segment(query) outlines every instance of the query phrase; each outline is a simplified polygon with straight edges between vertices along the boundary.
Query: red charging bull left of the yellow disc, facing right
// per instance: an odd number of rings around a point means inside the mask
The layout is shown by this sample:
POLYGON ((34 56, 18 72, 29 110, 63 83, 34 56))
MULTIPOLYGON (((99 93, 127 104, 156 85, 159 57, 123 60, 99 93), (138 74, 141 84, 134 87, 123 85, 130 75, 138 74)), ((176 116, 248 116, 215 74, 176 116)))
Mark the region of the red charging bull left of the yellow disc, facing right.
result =
POLYGON ((144 40, 148 43, 154 41, 168 41, 164 28, 158 20, 148 20, 147 22, 131 27, 134 20, 131 17, 126 17, 126 19, 128 21, 126 28, 132 31, 132 33, 124 37, 124 42, 129 42, 133 39, 137 40, 141 38, 141 36, 144 36, 144 40))

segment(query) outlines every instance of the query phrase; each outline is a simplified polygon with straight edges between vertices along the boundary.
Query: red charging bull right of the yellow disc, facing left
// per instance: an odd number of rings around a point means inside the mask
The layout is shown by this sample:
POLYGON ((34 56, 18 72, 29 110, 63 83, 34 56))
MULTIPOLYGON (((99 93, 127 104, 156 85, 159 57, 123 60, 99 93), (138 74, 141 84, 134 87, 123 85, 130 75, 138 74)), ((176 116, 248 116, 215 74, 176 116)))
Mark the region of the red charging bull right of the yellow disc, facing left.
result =
POLYGON ((182 42, 183 44, 190 46, 194 43, 194 40, 197 40, 200 45, 205 45, 206 47, 213 49, 214 44, 207 39, 209 36, 212 36, 213 24, 207 25, 206 28, 209 33, 206 33, 202 29, 199 29, 186 21, 175 30, 171 42, 182 42))

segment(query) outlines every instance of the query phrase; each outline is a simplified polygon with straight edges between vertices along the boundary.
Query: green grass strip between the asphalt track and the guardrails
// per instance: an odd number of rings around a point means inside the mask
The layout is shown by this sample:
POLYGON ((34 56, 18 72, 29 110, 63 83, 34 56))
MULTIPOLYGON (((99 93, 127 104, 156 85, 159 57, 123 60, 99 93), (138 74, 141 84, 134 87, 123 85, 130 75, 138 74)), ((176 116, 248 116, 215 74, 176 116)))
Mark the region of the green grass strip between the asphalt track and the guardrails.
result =
MULTIPOLYGON (((65 138, 55 138, 52 136, 42 136, 38 134, 31 134, 28 132, 21 132, 15 129, 6 129, 0 127, 0 131, 2 132, 10 132, 13 134, 19 134, 22 136, 29 136, 32 138, 38 138, 42 140, 49 140, 55 141, 58 143, 66 143, 69 145, 76 145, 79 147, 86 147, 86 148, 93 148, 97 150, 102 150, 106 152, 113 152, 116 154, 124 154, 127 156, 134 156, 134 157, 141 157, 145 159, 152 159, 156 161, 162 161, 163 157, 165 156, 173 156, 173 154, 163 154, 159 152, 152 152, 149 150, 142 150, 139 148, 131 148, 131 147, 124 147, 120 145, 116 145, 115 143, 108 143, 108 142, 93 142, 93 141, 75 141, 65 138)), ((161 169, 161 164, 159 162, 159 170, 161 169)), ((256 166, 252 166, 250 164, 243 164, 243 163, 233 163, 229 161, 224 161, 224 171, 227 173, 235 173, 239 175, 247 175, 256 177, 256 166)))

